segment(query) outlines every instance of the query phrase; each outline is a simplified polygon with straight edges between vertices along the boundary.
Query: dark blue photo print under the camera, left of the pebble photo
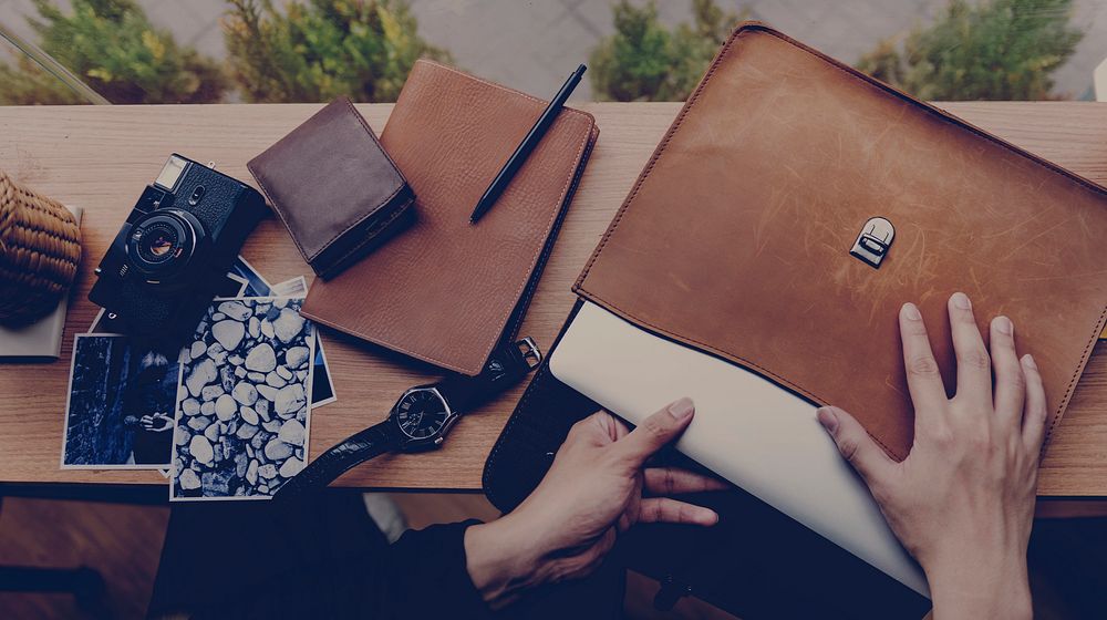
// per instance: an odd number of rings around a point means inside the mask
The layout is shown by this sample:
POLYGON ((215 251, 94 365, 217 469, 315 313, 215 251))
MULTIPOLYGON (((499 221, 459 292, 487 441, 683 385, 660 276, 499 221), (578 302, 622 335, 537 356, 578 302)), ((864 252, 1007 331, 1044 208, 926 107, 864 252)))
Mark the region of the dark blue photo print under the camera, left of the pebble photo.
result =
POLYGON ((77 334, 62 468, 168 466, 179 376, 177 360, 135 350, 125 337, 77 334))

